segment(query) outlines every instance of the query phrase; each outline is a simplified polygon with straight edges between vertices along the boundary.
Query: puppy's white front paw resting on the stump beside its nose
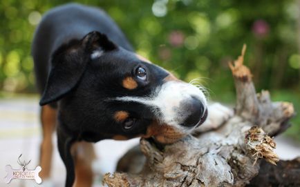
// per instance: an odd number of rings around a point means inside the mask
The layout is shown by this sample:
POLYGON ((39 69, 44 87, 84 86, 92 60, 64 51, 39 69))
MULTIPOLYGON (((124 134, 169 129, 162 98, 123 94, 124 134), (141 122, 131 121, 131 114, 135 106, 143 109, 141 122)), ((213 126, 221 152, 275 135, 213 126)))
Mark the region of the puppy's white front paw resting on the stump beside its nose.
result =
POLYGON ((209 105, 208 116, 206 121, 195 129, 195 132, 205 132, 213 130, 224 124, 230 117, 234 115, 234 110, 219 103, 209 105))

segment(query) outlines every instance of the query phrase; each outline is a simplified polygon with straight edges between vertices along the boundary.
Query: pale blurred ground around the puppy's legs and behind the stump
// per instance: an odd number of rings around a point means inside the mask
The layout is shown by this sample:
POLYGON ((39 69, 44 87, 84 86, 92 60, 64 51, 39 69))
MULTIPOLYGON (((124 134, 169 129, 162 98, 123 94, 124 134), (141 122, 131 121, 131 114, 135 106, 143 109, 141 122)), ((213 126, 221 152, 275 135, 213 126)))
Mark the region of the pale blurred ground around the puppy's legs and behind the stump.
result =
MULTIPOLYGON (((54 141, 55 141, 54 136, 54 141)), ((39 161, 39 142, 41 141, 39 125, 38 99, 35 97, 12 97, 0 99, 0 187, 4 186, 44 186, 34 181, 21 181, 14 179, 5 184, 5 166, 20 168, 17 158, 23 154, 21 160, 31 162, 28 169, 33 169, 39 161)), ((281 159, 293 159, 300 156, 300 144, 296 144, 287 137, 276 137, 276 152, 281 159)), ((55 144, 55 142, 54 142, 55 144)), ((95 166, 97 173, 113 172, 116 162, 126 150, 138 144, 138 139, 130 141, 105 140, 97 143, 98 159, 95 166)), ((63 186, 65 170, 63 163, 55 148, 52 178, 55 186, 63 186)), ((100 176, 100 175, 99 175, 100 176)), ((94 186, 100 186, 101 178, 95 178, 94 186)))

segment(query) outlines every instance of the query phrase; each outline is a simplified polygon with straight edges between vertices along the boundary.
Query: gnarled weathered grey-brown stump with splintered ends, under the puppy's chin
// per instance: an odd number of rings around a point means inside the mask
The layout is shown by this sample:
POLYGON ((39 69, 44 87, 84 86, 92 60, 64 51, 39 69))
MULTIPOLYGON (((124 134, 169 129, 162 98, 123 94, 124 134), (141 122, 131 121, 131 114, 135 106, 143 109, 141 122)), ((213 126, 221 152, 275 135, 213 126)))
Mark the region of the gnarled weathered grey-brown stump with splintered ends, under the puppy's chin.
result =
POLYGON ((140 150, 145 157, 137 148, 130 150, 118 167, 126 173, 108 173, 104 184, 245 186, 259 173, 261 159, 276 164, 276 144, 270 136, 288 128, 294 108, 287 102, 272 103, 268 91, 256 94, 251 72, 243 65, 244 54, 245 46, 242 55, 229 63, 236 85, 233 117, 218 128, 189 135, 174 144, 141 139, 140 150))

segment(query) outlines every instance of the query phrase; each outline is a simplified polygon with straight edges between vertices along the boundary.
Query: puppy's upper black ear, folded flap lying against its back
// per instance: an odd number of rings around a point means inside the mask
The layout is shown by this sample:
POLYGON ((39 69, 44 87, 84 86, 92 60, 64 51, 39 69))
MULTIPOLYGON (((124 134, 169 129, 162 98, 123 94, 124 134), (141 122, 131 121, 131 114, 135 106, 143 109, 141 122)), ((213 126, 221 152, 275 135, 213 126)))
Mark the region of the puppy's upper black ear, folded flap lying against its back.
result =
POLYGON ((88 61, 116 48, 106 35, 96 31, 60 46, 53 52, 46 88, 39 104, 42 106, 62 99, 75 88, 88 61))

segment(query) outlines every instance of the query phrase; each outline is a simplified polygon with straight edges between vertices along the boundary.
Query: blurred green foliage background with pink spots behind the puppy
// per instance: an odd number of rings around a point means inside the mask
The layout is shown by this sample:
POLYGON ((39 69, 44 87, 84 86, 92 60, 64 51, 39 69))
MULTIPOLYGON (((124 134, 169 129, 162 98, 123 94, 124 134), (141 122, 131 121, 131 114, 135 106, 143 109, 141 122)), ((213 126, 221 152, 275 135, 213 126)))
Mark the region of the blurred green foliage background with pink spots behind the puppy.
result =
MULTIPOLYGON (((0 98, 38 97, 30 46, 44 12, 62 0, 0 1, 0 98)), ((234 104, 229 61, 247 43, 257 90, 300 111, 299 0, 77 1, 106 10, 142 56, 180 79, 200 81, 214 101, 234 104)), ((286 135, 300 141, 300 115, 286 135)))

